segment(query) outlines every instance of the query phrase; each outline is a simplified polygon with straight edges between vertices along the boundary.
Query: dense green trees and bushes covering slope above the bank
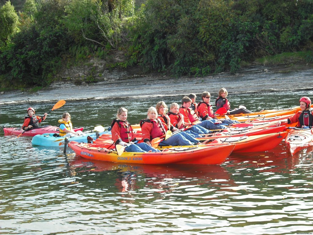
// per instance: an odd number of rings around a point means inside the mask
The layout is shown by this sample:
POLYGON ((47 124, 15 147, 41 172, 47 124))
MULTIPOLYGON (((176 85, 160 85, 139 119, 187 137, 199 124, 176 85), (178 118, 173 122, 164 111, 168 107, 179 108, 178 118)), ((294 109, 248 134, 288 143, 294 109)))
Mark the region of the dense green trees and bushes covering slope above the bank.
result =
MULTIPOLYGON (((26 0, 20 13, 0 8, 0 82, 45 86, 65 59, 203 76, 242 60, 312 50, 312 0, 26 0), (135 11, 136 10, 136 11, 135 11)), ((312 55, 306 55, 312 61, 312 55)), ((15 85, 14 85, 15 84, 15 85)))

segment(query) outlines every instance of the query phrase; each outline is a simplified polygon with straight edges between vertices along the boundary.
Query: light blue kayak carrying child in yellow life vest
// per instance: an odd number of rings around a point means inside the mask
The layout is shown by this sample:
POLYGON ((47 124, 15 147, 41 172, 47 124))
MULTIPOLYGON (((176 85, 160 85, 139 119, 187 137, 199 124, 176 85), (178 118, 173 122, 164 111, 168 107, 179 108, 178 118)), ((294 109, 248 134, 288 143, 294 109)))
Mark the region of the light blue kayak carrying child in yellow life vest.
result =
MULTIPOLYGON (((106 134, 108 131, 99 132, 99 135, 106 134)), ((64 136, 63 137, 54 137, 54 133, 45 133, 42 135, 35 135, 32 139, 33 145, 39 145, 39 146, 51 146, 51 147, 59 147, 64 146, 64 136), (56 141, 59 140, 59 141, 56 141), (60 144, 61 143, 61 144, 60 144)), ((92 137, 93 139, 96 139, 96 133, 83 133, 80 135, 75 135, 71 137, 67 137, 69 141, 76 141, 76 142, 84 142, 87 143, 87 136, 92 137)))

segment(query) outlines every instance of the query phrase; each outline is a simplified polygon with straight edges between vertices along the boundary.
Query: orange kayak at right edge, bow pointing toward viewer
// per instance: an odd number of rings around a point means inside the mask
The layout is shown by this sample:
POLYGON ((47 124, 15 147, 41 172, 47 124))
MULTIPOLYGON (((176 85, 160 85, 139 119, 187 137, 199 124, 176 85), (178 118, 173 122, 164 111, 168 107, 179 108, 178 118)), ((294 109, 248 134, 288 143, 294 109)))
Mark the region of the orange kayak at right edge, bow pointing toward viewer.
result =
POLYGON ((311 129, 292 129, 290 130, 285 143, 291 155, 296 154, 302 149, 313 146, 313 130, 311 129))

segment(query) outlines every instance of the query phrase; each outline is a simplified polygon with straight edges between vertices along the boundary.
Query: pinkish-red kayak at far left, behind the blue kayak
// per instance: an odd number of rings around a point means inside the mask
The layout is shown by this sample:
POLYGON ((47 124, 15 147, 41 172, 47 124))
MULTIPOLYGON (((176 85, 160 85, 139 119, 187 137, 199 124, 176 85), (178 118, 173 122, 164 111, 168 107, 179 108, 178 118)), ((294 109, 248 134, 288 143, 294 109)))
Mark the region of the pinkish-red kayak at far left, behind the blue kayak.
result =
MULTIPOLYGON (((74 128, 74 131, 82 131, 84 128, 74 128)), ((3 127, 4 135, 19 135, 23 133, 22 128, 7 128, 3 127)), ((33 128, 28 131, 25 131, 22 136, 35 136, 35 135, 41 135, 45 133, 59 133, 59 127, 45 125, 38 128, 33 128)))

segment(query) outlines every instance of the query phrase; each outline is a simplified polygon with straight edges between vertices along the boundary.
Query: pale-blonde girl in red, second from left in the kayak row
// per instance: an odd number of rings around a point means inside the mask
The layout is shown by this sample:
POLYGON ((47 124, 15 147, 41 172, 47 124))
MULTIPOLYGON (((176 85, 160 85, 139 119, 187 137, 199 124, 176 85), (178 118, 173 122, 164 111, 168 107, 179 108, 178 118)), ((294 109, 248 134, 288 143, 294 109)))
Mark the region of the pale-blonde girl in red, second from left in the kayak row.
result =
MULTIPOLYGON (((166 127, 162 121, 157 118, 157 111, 155 107, 150 107, 147 112, 147 119, 141 120, 141 132, 143 141, 151 145, 151 140, 154 138, 165 138, 166 131, 171 128, 171 123, 168 122, 166 127)), ((197 139, 188 135, 187 133, 180 132, 172 135, 167 140, 163 139, 159 146, 184 146, 194 144, 206 144, 209 140, 200 143, 197 139)))

